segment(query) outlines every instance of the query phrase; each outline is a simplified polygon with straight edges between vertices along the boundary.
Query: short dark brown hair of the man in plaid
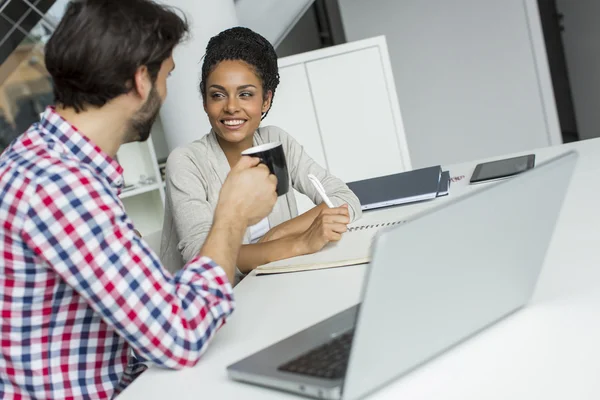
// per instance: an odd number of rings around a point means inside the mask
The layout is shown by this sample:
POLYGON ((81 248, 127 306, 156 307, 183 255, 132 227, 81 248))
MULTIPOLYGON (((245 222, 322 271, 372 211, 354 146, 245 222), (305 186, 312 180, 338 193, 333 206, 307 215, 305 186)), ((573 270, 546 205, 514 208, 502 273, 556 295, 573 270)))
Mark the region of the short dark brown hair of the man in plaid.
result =
POLYGON ((101 107, 132 90, 144 65, 154 83, 188 31, 185 16, 152 0, 71 1, 45 50, 56 103, 101 107))

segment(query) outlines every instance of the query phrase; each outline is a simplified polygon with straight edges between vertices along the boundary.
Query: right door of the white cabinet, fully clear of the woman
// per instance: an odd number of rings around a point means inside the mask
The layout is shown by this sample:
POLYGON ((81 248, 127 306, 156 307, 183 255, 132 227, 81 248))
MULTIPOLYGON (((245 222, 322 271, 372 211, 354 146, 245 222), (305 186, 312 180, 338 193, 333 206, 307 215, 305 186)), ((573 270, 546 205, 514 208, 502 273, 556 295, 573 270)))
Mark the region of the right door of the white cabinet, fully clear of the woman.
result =
POLYGON ((331 173, 345 182, 403 171, 377 46, 306 63, 331 173))

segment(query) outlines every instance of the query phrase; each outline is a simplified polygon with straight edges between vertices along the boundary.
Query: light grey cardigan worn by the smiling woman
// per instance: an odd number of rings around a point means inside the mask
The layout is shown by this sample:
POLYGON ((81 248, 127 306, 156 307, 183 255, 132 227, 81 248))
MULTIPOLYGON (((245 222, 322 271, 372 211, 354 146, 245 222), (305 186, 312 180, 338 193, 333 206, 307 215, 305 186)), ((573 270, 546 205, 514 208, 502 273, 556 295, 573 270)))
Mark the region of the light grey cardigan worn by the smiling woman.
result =
MULTIPOLYGON (((291 187, 320 204, 308 174, 323 184, 335 206, 348 204, 352 221, 361 217, 358 198, 340 179, 314 162, 303 147, 290 135, 275 126, 259 128, 254 134, 254 145, 281 142, 285 152, 291 187)), ((171 152, 166 169, 166 205, 160 258, 171 272, 181 269, 198 254, 213 222, 213 214, 221 186, 230 171, 225 153, 217 142, 214 131, 200 140, 171 152)), ((294 191, 279 197, 269 214, 271 228, 298 215, 294 191)), ((250 242, 246 230, 244 244, 250 242)))

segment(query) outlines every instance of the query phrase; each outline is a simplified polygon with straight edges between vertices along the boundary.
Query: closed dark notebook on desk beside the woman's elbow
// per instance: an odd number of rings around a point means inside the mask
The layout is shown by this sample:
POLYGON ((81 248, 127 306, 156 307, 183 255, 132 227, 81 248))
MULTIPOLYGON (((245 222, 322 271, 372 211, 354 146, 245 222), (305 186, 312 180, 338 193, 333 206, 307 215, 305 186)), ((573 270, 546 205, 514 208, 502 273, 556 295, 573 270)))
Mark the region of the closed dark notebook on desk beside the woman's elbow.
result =
POLYGON ((438 165, 349 182, 363 210, 434 199, 438 195, 442 168, 438 165))

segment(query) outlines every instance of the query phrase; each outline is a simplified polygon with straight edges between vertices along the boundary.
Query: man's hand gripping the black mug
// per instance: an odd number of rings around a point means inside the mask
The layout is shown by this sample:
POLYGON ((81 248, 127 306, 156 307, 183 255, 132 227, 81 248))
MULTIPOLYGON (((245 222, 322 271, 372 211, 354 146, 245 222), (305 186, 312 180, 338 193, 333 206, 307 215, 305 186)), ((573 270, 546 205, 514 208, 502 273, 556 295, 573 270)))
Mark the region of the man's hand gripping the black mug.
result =
POLYGON ((269 215, 277 201, 277 178, 254 157, 243 156, 231 169, 219 196, 215 211, 236 216, 246 226, 254 225, 269 215))

